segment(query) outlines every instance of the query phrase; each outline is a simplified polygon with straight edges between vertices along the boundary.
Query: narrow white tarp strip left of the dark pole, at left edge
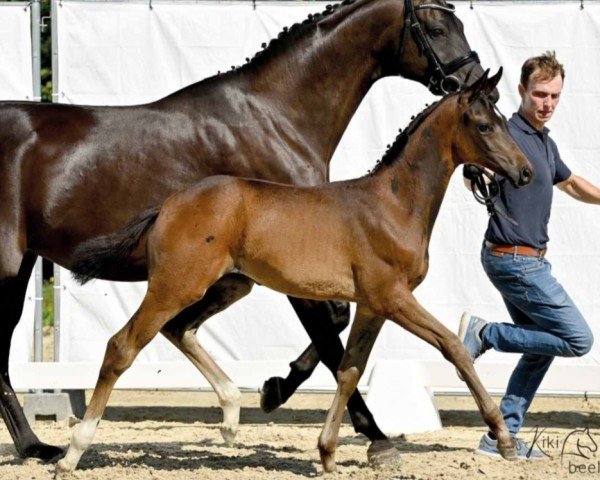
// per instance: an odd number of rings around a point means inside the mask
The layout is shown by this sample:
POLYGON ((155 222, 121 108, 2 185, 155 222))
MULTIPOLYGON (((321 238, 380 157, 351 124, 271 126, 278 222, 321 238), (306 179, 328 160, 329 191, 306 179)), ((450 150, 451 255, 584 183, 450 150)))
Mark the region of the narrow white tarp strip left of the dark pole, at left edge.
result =
MULTIPOLYGON (((32 99, 31 9, 27 3, 0 2, 0 100, 32 99)), ((32 275, 22 320, 13 334, 11 362, 31 360, 34 296, 32 275)))

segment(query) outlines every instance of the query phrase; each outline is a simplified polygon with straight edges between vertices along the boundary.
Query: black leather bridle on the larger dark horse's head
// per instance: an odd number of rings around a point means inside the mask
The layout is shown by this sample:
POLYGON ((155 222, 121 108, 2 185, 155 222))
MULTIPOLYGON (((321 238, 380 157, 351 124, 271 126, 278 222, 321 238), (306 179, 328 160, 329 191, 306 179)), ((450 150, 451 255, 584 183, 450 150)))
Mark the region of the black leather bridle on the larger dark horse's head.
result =
POLYGON ((420 54, 425 54, 427 57, 429 90, 435 93, 437 87, 439 92, 443 93, 444 95, 447 93, 454 93, 460 89, 461 83, 459 82, 458 78, 452 74, 467 63, 479 63, 479 56, 477 55, 477 52, 471 50, 462 57, 455 58, 448 63, 442 63, 427 41, 427 37, 423 33, 423 29, 421 28, 421 24, 417 18, 416 11, 425 9, 441 10, 442 12, 451 13, 453 15, 455 10, 454 5, 451 4, 446 6, 437 5, 435 3, 422 3, 415 7, 413 5, 413 0, 404 0, 404 26, 402 27, 398 58, 402 57, 408 32, 410 30, 415 43, 419 47, 420 54))

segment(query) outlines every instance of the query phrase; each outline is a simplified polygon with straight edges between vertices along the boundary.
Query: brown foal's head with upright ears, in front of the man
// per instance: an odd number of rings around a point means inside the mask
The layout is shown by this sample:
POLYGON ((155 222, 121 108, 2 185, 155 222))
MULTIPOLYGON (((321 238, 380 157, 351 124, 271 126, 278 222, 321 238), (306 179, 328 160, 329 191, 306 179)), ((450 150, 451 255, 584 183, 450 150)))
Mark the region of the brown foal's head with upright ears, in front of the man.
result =
POLYGON ((515 186, 527 185, 533 177, 529 160, 508 133, 506 118, 490 99, 502 69, 488 72, 457 96, 460 118, 452 140, 455 164, 473 163, 508 178, 515 186))

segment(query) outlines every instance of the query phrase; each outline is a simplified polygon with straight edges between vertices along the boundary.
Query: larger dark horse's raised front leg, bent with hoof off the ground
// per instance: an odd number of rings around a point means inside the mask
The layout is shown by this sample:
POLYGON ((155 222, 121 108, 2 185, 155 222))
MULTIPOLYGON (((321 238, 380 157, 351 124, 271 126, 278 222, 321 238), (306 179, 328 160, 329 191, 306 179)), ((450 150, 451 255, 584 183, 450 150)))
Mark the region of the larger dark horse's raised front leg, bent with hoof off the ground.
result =
MULTIPOLYGON (((348 302, 300 302, 294 297, 288 299, 303 325, 311 321, 330 322, 339 334, 350 323, 348 302), (319 307, 315 308, 315 304, 319 307), (315 316, 319 318, 314 318, 315 316)), ((317 348, 311 343, 290 363, 290 373, 286 378, 271 377, 264 383, 260 392, 260 408, 269 413, 287 402, 298 387, 312 375, 320 361, 317 348)))

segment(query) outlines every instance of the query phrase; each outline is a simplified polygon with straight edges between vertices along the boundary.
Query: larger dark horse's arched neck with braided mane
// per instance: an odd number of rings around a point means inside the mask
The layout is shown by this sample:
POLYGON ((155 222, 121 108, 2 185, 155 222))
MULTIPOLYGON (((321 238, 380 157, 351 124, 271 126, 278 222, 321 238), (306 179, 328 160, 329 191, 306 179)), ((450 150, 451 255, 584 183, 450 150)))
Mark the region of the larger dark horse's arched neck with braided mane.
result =
MULTIPOLYGON (((395 64, 404 6, 400 0, 357 0, 298 26, 235 71, 173 95, 202 102, 223 88, 244 121, 272 123, 302 157, 327 168, 371 85, 395 64), (240 103, 242 107, 240 109, 240 103), (290 142, 289 139, 292 139, 290 142)), ((239 118, 239 115, 238 115, 239 118)))

